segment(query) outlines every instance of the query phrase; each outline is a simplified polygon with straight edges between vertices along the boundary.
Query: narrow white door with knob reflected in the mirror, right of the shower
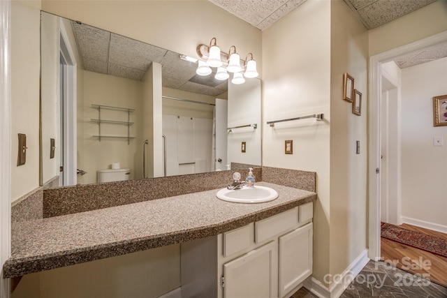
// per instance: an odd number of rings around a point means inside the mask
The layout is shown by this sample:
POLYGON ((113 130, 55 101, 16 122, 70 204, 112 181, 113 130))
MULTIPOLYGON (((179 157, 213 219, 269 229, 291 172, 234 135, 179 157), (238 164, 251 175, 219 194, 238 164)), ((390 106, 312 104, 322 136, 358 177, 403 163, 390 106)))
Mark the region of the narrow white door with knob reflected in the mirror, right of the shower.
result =
POLYGON ((216 170, 226 170, 228 100, 216 98, 216 170))

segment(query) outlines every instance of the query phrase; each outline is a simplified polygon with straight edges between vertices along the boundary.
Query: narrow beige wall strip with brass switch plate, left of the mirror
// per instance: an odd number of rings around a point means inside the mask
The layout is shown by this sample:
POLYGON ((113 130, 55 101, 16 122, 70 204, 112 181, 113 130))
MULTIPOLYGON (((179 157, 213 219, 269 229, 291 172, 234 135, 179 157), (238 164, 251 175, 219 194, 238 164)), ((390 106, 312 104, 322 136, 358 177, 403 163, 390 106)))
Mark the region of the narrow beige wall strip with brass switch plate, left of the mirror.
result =
POLYGON ((11 201, 39 186, 40 9, 40 1, 11 3, 11 201), (20 167, 17 133, 27 135, 20 167))

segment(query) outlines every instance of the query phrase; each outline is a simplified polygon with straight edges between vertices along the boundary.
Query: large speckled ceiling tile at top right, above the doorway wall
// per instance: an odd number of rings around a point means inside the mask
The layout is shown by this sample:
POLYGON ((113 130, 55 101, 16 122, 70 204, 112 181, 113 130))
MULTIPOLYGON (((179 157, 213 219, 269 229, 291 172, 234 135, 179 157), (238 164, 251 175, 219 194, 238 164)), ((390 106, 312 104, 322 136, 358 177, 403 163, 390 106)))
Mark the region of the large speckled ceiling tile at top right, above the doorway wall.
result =
POLYGON ((378 0, 358 10, 358 14, 372 29, 422 8, 433 1, 435 0, 378 0))

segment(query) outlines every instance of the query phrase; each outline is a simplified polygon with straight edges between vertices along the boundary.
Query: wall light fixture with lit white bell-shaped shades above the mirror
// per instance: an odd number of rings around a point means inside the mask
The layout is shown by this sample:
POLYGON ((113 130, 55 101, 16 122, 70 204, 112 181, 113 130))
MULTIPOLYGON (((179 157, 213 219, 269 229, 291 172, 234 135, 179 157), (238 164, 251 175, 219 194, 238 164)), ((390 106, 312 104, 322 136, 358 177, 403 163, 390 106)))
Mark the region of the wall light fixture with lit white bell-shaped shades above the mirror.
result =
POLYGON ((196 70, 198 75, 210 75, 212 73, 210 67, 217 67, 215 78, 217 80, 226 80, 229 77, 228 73, 234 73, 231 80, 233 84, 244 83, 244 77, 251 78, 259 75, 252 53, 247 54, 245 60, 242 60, 239 54, 237 54, 234 45, 230 47, 228 54, 221 52, 215 37, 211 39, 209 46, 198 45, 197 54, 200 58, 196 70))

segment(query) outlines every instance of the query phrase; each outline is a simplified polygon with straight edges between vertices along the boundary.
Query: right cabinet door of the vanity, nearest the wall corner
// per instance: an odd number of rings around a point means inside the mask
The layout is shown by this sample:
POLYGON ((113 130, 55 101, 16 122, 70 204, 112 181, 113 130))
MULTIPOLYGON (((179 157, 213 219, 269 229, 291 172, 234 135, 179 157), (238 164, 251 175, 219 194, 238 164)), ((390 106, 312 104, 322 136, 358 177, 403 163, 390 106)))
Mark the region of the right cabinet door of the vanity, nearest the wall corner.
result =
POLYGON ((279 237, 279 297, 312 274, 312 223, 279 237))

